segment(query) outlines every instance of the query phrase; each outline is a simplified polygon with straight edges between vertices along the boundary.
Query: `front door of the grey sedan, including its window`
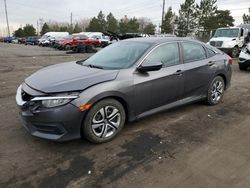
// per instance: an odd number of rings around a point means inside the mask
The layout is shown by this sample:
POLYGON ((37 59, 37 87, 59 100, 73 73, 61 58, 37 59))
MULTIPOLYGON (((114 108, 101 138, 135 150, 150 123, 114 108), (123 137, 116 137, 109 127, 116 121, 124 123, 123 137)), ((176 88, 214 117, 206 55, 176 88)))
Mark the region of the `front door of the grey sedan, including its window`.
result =
POLYGON ((162 62, 163 68, 134 74, 137 115, 177 101, 184 91, 183 64, 177 42, 158 46, 144 62, 162 62))

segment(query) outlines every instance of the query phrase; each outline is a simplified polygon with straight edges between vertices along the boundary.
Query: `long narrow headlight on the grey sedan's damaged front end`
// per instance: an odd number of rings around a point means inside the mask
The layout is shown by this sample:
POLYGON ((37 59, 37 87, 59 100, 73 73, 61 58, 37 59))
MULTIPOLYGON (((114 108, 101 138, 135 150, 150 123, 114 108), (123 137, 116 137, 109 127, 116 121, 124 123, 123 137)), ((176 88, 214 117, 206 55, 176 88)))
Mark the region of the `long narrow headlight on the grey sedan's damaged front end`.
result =
POLYGON ((35 97, 31 101, 40 102, 42 107, 52 108, 65 105, 76 98, 78 98, 78 95, 73 94, 73 95, 58 95, 51 97, 35 97))

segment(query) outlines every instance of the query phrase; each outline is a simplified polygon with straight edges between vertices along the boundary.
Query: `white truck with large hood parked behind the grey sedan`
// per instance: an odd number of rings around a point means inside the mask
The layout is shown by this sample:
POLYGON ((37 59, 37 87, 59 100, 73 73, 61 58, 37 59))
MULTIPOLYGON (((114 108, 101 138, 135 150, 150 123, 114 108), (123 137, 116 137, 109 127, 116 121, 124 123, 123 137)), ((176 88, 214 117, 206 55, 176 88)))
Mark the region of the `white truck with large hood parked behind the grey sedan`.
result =
POLYGON ((248 30, 241 27, 218 28, 209 44, 235 58, 245 45, 247 36, 248 30))

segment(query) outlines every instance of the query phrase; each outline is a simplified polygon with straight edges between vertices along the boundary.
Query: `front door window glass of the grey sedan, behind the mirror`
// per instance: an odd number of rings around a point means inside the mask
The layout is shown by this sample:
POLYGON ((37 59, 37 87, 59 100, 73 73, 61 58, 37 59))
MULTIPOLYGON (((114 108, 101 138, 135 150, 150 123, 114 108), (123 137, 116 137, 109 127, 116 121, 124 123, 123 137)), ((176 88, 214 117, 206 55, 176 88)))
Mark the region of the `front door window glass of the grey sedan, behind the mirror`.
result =
POLYGON ((177 43, 163 44, 157 47, 146 58, 150 62, 162 62, 163 66, 171 66, 180 63, 179 48, 177 43))

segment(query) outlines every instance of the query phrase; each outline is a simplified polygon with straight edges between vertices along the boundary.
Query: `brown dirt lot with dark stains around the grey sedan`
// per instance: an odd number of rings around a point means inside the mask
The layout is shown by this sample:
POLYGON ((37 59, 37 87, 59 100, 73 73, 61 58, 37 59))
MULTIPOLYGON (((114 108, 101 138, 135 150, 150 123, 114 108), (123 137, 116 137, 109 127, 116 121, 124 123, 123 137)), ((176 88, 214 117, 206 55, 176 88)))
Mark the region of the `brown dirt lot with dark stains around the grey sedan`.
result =
POLYGON ((18 85, 44 66, 83 57, 0 43, 0 187, 249 187, 250 71, 236 63, 217 106, 147 117, 101 145, 30 136, 18 117, 18 85))

